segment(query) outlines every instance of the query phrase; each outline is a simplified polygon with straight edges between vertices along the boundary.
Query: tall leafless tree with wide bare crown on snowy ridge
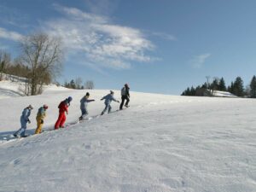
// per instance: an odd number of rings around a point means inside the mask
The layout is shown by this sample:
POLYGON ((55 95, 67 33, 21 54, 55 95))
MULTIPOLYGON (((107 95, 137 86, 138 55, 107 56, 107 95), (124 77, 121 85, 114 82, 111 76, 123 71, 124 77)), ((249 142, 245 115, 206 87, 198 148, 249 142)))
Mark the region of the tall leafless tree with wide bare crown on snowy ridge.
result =
POLYGON ((21 60, 29 68, 31 95, 42 92, 47 84, 61 73, 61 40, 44 33, 29 35, 20 42, 21 60))

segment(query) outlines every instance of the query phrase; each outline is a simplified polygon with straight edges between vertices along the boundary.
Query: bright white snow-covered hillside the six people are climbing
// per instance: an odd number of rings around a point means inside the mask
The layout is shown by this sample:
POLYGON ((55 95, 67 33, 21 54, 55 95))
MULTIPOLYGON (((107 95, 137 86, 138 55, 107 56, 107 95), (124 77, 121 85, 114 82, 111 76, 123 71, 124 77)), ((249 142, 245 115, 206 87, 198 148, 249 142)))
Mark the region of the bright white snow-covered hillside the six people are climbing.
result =
MULTIPOLYGON (((19 128, 28 104, 49 104, 52 129, 61 99, 73 96, 67 122, 79 117, 86 90, 0 100, 1 135, 19 128)), ((116 90, 119 98, 119 90, 116 90)), ((90 90, 90 116, 108 90, 90 90)), ((131 92, 131 108, 59 131, 0 143, 0 191, 256 191, 256 100, 131 92)), ((113 110, 119 104, 113 102, 113 110)))

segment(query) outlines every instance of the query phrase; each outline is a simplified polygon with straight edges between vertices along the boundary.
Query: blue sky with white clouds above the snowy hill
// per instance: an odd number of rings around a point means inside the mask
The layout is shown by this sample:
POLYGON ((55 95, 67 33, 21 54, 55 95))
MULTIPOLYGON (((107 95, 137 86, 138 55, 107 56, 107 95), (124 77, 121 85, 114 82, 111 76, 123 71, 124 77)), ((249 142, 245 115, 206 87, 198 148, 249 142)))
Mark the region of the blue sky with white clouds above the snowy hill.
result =
POLYGON ((32 32, 62 38, 64 80, 180 95, 206 76, 256 74, 254 0, 1 0, 0 49, 32 32))

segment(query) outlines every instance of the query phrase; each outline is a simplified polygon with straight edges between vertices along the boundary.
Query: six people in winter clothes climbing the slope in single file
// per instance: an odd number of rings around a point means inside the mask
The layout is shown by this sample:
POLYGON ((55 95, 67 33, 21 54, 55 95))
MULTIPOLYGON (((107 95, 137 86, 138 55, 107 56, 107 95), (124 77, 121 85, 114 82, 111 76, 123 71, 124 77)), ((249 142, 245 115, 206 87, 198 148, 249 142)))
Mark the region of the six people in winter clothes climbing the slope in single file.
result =
MULTIPOLYGON (((107 96, 103 96, 102 100, 105 100, 105 108, 102 111, 102 115, 108 111, 108 113, 111 112, 111 102, 119 102, 117 99, 113 97, 114 92, 113 90, 110 90, 110 93, 107 96)), ((89 99, 90 93, 87 92, 85 96, 82 97, 80 100, 80 109, 81 109, 81 116, 79 117, 79 120, 83 120, 86 115, 88 115, 87 105, 89 102, 95 102, 94 99, 89 99)), ((121 98, 122 102, 119 105, 119 110, 123 109, 123 106, 125 104, 125 107, 129 107, 130 102, 130 87, 128 84, 125 84, 124 87, 121 89, 121 98)), ((55 122, 55 130, 58 130, 59 128, 64 128, 65 121, 66 121, 66 114, 68 114, 68 107, 70 106, 70 102, 72 102, 73 98, 72 96, 68 96, 67 99, 62 101, 58 108, 59 108, 59 117, 57 121, 55 122)), ((48 109, 48 105, 44 104, 42 107, 38 108, 37 113, 37 129, 35 131, 35 134, 39 134, 42 132, 42 128, 44 125, 44 119, 46 117, 46 110, 48 109)), ((26 125, 27 123, 31 123, 31 120, 29 119, 31 115, 33 107, 32 105, 27 106, 22 111, 22 114, 20 116, 20 125, 21 128, 18 131, 15 131, 14 137, 26 137, 26 125)))

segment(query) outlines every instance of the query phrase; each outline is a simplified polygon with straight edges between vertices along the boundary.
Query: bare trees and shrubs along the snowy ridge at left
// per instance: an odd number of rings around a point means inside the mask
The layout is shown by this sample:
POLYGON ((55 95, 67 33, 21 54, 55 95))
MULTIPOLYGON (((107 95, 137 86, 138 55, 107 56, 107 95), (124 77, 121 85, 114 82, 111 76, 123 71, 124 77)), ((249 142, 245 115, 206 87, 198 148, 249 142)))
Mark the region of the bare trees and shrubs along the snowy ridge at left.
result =
MULTIPOLYGON (((13 61, 9 53, 0 50, 0 81, 6 74, 13 75, 10 76, 11 78, 22 77, 25 79, 25 87, 22 88, 25 95, 41 94, 43 85, 54 82, 61 74, 63 59, 61 39, 50 37, 45 33, 35 33, 21 38, 19 48, 20 55, 13 61)), ((93 89, 94 84, 91 85, 90 82, 88 83, 90 89, 93 89)), ((65 85, 72 89, 81 89, 79 84, 75 87, 73 84, 65 85)))

